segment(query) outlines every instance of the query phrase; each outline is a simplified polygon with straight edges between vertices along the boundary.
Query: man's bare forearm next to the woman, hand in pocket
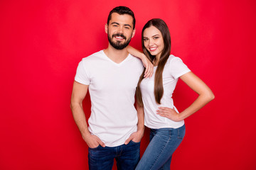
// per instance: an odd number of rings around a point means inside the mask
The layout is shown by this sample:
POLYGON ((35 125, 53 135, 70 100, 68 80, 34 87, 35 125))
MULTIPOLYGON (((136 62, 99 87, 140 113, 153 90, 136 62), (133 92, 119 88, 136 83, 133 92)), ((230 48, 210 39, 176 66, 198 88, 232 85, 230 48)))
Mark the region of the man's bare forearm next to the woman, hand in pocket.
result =
POLYGON ((136 107, 138 114, 137 132, 132 133, 132 135, 124 142, 125 145, 127 145, 130 142, 130 140, 132 140, 133 142, 140 142, 144 135, 144 108, 143 106, 139 106, 138 103, 136 107))

